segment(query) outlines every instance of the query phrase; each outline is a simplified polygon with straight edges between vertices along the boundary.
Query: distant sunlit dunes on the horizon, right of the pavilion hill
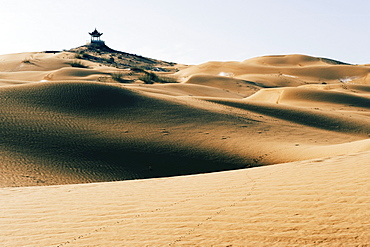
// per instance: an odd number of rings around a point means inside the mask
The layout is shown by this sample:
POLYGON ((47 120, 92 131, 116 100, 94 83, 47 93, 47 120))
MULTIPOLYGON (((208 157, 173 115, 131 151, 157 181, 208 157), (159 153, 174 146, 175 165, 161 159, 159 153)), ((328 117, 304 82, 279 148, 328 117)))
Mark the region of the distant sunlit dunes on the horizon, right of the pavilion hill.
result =
POLYGON ((254 81, 258 86, 276 87, 307 83, 338 83, 351 81, 368 84, 367 65, 347 65, 328 59, 304 55, 266 56, 243 62, 208 62, 177 73, 187 78, 192 75, 232 75, 233 78, 254 81), (253 79, 255 78, 255 79, 253 79))

